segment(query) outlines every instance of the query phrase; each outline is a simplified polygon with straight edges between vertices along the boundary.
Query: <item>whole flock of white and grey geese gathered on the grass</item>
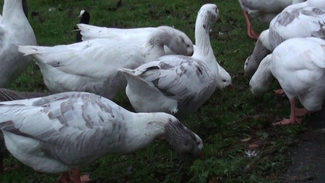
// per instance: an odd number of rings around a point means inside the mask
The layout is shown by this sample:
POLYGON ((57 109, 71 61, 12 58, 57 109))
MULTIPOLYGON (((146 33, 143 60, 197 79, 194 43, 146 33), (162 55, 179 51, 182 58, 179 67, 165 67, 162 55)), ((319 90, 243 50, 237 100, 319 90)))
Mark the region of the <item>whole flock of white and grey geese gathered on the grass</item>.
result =
MULTIPOLYGON (((291 104, 290 119, 321 109, 325 98, 325 0, 239 0, 248 35, 256 38, 244 63, 254 96, 274 78, 291 104), (249 16, 269 23, 257 34, 249 16), (296 98, 304 108, 295 108, 296 98)), ((194 12, 193 12, 194 13, 194 12)), ((219 19, 203 5, 195 22, 195 45, 170 26, 117 29, 89 25, 80 12, 76 43, 39 46, 27 19, 26 0, 4 0, 0 23, 0 171, 10 152, 68 183, 89 181, 80 168, 108 154, 128 154, 160 137, 178 153, 198 156, 201 138, 178 119, 231 89, 228 72, 216 61, 209 27, 219 19), (52 93, 6 89, 35 61, 52 93), (111 100, 121 91, 136 113, 111 100), (70 177, 72 171, 73 178, 70 177)))

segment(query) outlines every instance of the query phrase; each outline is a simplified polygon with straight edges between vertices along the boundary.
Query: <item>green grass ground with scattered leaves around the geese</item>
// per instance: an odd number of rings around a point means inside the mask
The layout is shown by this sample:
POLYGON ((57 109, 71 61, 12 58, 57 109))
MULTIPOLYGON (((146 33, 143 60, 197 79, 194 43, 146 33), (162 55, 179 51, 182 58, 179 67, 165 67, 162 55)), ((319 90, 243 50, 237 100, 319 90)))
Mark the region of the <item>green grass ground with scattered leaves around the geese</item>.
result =
MULTIPOLYGON (((115 27, 146 27, 169 25, 184 31, 194 42, 195 19, 198 10, 207 1, 197 0, 123 0, 115 11, 112 0, 35 0, 29 3, 29 21, 34 28, 39 45, 70 44, 75 40, 71 32, 79 23, 76 17, 81 9, 90 15, 90 24, 115 27), (49 11, 50 7, 56 10, 49 11), (33 13, 34 12, 34 13, 33 13), (39 16, 31 14, 38 12, 39 16)), ((95 182, 278 182, 290 163, 286 156, 297 142, 303 127, 291 125, 274 127, 272 122, 288 117, 289 102, 274 93, 254 100, 249 91, 249 80, 242 76, 245 59, 254 48, 254 41, 247 35, 246 24, 237 0, 214 1, 221 23, 211 26, 212 48, 217 60, 233 78, 233 91, 215 91, 213 96, 183 123, 198 134, 204 143, 202 159, 181 157, 164 141, 155 141, 134 155, 110 155, 92 166, 84 167, 95 182), (224 34, 219 35, 219 31, 224 34), (261 117, 256 118, 259 114, 261 117), (255 117, 254 117, 255 116, 255 117), (251 138, 248 143, 240 139, 251 138), (249 148, 257 144, 258 148, 249 148), (245 150, 258 151, 257 157, 246 157, 245 150), (211 180, 211 181, 210 181, 211 180)), ((257 32, 266 24, 253 21, 257 32)), ((278 85, 274 85, 276 89, 278 85)), ((15 83, 12 89, 19 91, 45 91, 38 66, 33 64, 15 83)), ((124 93, 115 100, 130 109, 124 93)), ((18 163, 15 170, 0 176, 2 183, 49 183, 59 175, 39 174, 14 158, 6 165, 18 163)))

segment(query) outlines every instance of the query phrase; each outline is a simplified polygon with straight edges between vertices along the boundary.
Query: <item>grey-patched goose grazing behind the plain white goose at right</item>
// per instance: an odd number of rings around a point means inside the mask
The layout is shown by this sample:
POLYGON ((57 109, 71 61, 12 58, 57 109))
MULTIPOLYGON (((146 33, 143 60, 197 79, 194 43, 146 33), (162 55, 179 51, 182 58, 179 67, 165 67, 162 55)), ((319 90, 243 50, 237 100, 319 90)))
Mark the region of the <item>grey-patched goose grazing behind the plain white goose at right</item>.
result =
MULTIPOLYGON (((283 41, 293 37, 325 39, 325 1, 307 0, 285 8, 258 38, 253 53, 244 63, 244 76, 252 76, 266 55, 283 41)), ((283 90, 276 90, 282 95, 283 90)))

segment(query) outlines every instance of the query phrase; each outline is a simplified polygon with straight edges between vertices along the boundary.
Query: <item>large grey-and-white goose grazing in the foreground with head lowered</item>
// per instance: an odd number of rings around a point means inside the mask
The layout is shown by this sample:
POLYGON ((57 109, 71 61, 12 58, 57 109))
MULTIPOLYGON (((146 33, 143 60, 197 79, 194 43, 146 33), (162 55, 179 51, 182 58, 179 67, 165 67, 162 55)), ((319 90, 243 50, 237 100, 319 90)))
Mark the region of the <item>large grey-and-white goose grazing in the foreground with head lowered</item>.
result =
POLYGON ((0 102, 0 130, 20 162, 59 179, 90 181, 80 168, 109 154, 145 148, 162 135, 178 153, 198 156, 201 138, 166 113, 133 113, 93 93, 64 92, 0 102))

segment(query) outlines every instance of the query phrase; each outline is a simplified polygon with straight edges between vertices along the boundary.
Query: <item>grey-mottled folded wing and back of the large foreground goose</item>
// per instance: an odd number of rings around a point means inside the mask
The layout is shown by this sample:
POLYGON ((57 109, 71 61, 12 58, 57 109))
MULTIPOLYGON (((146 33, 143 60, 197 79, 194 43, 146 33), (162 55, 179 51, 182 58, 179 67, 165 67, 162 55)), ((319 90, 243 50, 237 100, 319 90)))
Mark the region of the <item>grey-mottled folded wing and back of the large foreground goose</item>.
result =
POLYGON ((38 140, 46 154, 67 165, 94 162, 114 152, 114 146, 117 151, 125 139, 125 109, 95 94, 60 93, 34 100, 31 106, 0 104, 3 107, 7 109, 0 111, 0 129, 38 140), (16 117, 10 111, 16 111, 16 117))

